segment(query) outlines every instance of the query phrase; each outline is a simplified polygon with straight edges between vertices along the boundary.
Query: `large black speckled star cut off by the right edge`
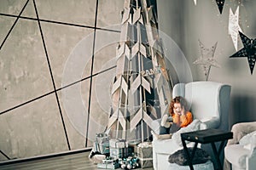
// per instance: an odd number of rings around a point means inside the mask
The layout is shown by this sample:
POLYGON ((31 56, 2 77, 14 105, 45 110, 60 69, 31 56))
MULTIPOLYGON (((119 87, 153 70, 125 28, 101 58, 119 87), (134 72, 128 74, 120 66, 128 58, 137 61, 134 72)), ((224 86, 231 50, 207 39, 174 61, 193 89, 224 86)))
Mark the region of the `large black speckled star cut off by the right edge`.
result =
POLYGON ((236 54, 230 56, 230 58, 235 57, 247 57, 248 64, 250 67, 251 75, 253 75, 253 68, 256 59, 256 38, 250 39, 239 31, 241 42, 244 48, 241 48, 236 54))

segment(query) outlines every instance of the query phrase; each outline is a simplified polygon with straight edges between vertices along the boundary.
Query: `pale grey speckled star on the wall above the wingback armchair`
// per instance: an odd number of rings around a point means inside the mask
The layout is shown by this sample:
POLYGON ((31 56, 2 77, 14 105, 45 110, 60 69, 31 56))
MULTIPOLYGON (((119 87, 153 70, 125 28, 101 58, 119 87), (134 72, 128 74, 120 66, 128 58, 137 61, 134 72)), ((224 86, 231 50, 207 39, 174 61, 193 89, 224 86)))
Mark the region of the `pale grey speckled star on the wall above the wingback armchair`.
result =
POLYGON ((199 47, 201 48, 201 57, 199 59, 196 59, 193 64, 202 66, 206 79, 208 80, 211 66, 220 67, 216 59, 213 59, 215 49, 217 47, 217 42, 212 46, 212 48, 205 48, 202 42, 200 40, 198 41, 199 47))

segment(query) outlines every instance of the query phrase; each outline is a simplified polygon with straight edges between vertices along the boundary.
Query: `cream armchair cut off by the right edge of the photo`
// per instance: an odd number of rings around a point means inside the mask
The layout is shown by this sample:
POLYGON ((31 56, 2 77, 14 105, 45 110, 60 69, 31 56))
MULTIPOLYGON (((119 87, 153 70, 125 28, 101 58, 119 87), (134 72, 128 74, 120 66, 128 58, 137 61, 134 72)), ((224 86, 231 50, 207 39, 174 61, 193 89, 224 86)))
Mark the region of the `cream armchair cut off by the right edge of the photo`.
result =
POLYGON ((232 126, 233 139, 224 148, 224 169, 254 170, 256 167, 256 122, 240 122, 232 126), (231 166, 230 164, 231 163, 231 166))

